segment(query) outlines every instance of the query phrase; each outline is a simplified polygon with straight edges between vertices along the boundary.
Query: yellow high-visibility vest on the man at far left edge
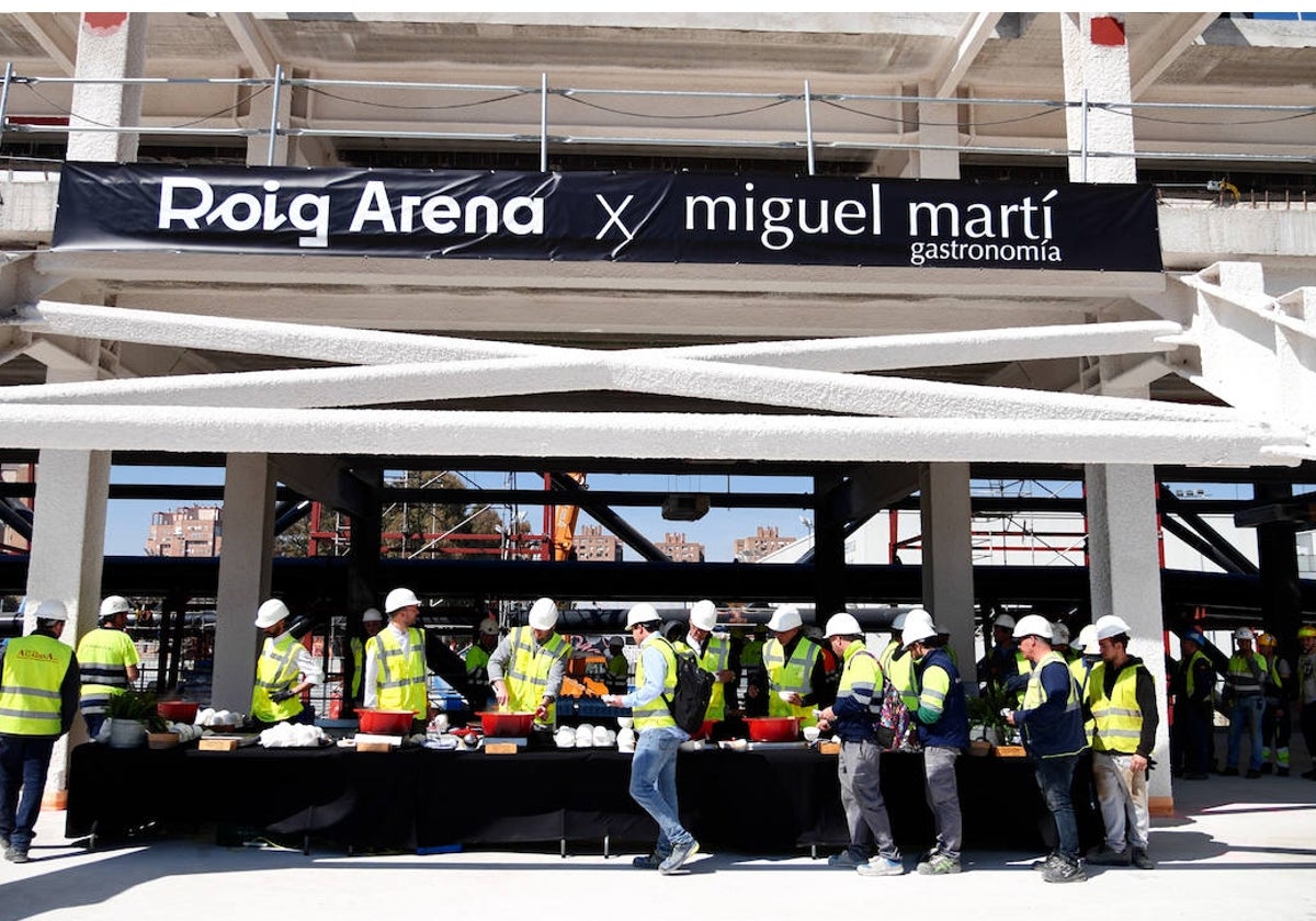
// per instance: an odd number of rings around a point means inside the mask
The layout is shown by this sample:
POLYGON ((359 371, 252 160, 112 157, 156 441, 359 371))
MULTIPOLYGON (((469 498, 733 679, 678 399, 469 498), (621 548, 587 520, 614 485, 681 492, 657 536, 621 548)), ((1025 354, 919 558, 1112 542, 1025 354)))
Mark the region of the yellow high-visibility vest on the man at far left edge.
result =
POLYGON ((0 734, 58 738, 59 688, 74 651, 54 637, 14 637, 5 646, 0 674, 0 734))

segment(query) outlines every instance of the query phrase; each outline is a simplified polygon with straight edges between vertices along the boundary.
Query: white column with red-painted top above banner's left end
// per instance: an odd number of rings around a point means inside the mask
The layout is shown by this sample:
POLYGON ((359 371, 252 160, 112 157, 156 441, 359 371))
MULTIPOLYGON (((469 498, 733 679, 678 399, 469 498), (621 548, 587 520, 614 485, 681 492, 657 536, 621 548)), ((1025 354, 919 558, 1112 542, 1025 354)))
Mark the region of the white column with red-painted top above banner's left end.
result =
MULTIPOLYGON (((146 63, 146 13, 83 13, 78 29, 74 76, 116 80, 142 76, 146 63)), ((130 163, 137 159, 136 134, 79 133, 79 125, 137 125, 142 87, 112 83, 74 84, 68 120, 68 159, 130 163)))

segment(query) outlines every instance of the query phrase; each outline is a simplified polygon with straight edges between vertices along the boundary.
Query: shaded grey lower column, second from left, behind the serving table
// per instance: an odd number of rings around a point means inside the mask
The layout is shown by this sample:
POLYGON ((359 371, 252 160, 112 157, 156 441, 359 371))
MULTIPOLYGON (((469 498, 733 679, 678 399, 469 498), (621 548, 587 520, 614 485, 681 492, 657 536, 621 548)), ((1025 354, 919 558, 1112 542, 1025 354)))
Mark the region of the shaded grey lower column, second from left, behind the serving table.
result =
POLYGON ((253 621, 270 597, 274 475, 265 454, 230 454, 224 476, 224 546, 215 618, 212 705, 247 713, 258 633, 253 621))

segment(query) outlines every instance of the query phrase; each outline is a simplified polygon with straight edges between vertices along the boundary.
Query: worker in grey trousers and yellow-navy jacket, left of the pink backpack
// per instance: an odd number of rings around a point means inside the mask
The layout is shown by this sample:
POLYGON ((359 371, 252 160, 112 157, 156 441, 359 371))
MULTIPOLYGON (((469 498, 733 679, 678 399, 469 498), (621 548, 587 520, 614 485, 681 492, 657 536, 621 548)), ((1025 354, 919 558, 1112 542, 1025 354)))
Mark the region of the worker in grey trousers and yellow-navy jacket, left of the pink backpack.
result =
POLYGON ((819 728, 834 728, 841 739, 836 771, 850 829, 849 849, 829 858, 828 866, 853 868, 863 876, 899 876, 904 862, 882 796, 882 746, 875 732, 882 712, 882 666, 865 647, 863 630, 851 614, 832 614, 824 633, 844 664, 836 703, 819 713, 819 728))

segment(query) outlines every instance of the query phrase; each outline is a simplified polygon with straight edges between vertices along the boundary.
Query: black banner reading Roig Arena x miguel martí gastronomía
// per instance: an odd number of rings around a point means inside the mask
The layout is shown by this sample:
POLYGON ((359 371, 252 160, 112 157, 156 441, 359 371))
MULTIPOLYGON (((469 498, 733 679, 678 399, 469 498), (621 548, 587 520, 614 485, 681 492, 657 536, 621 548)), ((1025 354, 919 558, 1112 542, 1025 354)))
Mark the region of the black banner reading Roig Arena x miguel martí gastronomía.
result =
POLYGON ((68 163, 57 250, 1161 271, 1145 186, 68 163))

